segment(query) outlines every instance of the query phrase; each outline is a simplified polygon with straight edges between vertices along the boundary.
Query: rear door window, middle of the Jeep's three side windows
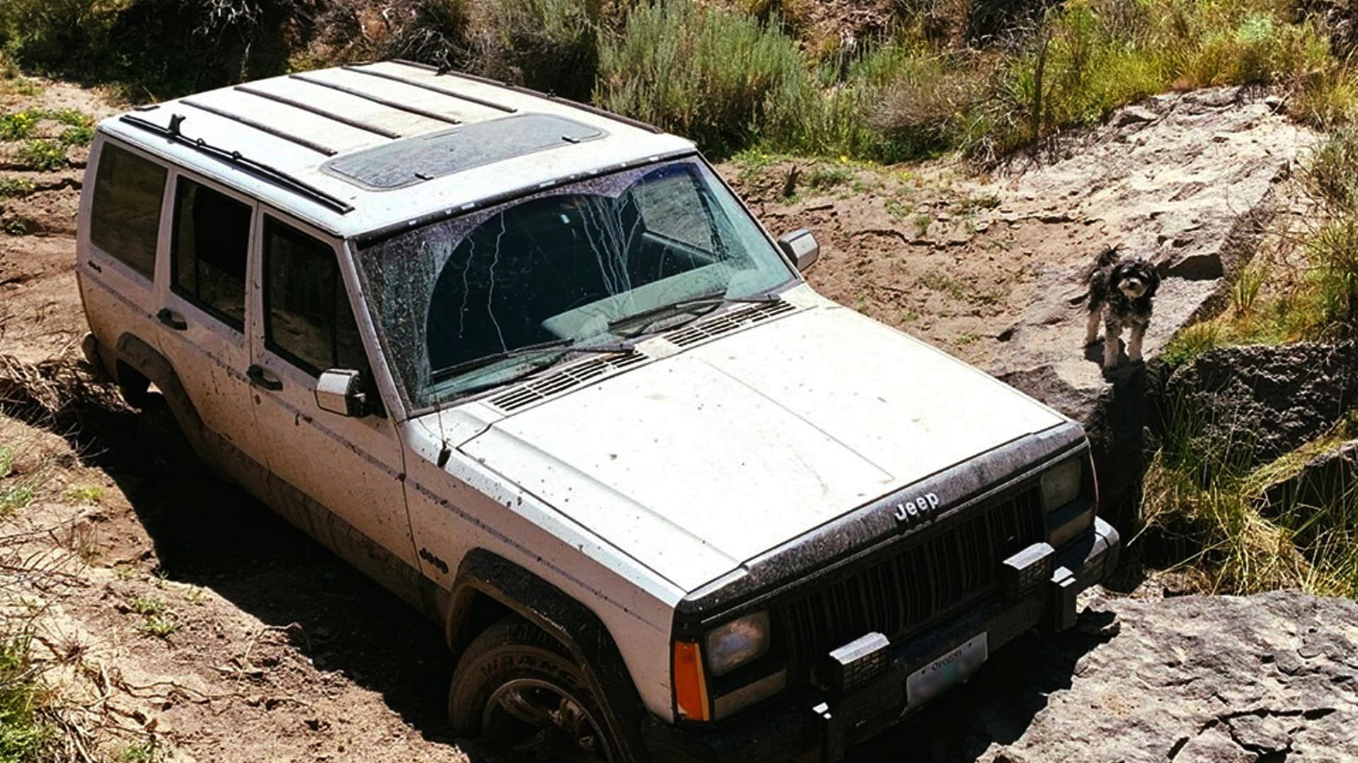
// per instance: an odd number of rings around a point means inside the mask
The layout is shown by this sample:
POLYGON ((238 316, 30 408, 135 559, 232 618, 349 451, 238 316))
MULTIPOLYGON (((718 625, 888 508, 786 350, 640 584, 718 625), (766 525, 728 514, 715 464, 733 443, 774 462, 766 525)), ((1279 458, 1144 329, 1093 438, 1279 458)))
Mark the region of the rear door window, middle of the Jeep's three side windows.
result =
POLYGON ((175 185, 171 288, 243 329, 250 206, 187 178, 175 185))

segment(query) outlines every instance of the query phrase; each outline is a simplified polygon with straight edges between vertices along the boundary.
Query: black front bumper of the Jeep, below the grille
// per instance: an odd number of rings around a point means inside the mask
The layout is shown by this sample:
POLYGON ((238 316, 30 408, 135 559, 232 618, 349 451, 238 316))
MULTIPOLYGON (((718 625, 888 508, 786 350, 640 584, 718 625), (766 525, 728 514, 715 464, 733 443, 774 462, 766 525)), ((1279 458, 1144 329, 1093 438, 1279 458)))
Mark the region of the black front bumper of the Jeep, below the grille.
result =
POLYGON ((891 645, 887 669, 845 695, 805 688, 729 722, 708 726, 675 725, 650 717, 642 726, 652 760, 736 762, 805 760, 834 763, 853 744, 877 736, 900 721, 906 679, 917 669, 986 634, 989 650, 1032 629, 1061 631, 1076 622, 1076 595, 1103 580, 1118 563, 1118 531, 1101 519, 1085 538, 1061 550, 1046 585, 1013 600, 994 596, 937 627, 891 645))

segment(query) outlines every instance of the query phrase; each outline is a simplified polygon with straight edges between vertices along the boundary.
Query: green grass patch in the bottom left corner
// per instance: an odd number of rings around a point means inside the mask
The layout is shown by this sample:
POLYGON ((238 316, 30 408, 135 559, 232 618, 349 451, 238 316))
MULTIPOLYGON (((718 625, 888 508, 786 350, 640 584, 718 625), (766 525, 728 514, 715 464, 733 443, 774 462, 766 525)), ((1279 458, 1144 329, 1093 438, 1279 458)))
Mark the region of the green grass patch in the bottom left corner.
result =
POLYGON ((30 657, 31 644, 31 631, 0 637, 0 760, 5 763, 48 760, 54 752, 52 695, 30 657))

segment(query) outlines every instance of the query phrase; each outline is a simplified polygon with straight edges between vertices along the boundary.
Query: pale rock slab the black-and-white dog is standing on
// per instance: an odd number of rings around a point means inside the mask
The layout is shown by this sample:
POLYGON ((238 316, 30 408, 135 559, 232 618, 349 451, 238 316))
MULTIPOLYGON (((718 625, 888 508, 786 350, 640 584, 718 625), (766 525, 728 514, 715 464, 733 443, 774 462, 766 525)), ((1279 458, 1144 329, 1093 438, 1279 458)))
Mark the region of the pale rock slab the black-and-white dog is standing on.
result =
POLYGON ((1150 98, 1059 138, 1047 162, 1016 157, 999 182, 1010 216, 1069 219, 1088 254, 1038 274, 1046 299, 1023 311, 987 371, 1086 425, 1115 519, 1130 520, 1143 474, 1145 379, 1123 367, 1109 387, 1101 348, 1081 349, 1084 269, 1104 246, 1157 265, 1148 358, 1218 310, 1275 212, 1278 182, 1316 140, 1275 106, 1243 88, 1150 98))

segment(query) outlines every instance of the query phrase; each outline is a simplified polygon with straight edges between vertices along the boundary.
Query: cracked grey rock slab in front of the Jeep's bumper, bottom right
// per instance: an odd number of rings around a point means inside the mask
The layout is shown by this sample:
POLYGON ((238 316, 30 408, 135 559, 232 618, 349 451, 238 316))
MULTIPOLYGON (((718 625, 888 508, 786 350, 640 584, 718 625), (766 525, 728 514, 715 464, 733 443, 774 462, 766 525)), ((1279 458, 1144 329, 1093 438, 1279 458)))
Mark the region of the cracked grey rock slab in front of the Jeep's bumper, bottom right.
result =
POLYGON ((1296 591, 1096 597, 853 760, 1207 763, 1358 760, 1358 603, 1296 591), (1092 630, 1092 629, 1090 629, 1092 630))

